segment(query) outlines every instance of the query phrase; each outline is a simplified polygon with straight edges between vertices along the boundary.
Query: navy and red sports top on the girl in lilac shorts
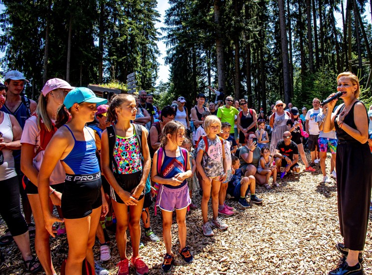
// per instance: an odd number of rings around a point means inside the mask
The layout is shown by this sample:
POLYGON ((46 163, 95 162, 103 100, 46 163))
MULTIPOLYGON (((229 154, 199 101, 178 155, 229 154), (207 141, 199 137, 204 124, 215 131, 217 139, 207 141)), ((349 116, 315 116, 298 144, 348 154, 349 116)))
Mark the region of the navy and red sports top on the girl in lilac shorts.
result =
MULTIPOLYGON (((183 148, 179 147, 180 150, 180 156, 178 157, 168 157, 164 152, 164 160, 160 169, 160 176, 162 178, 172 178, 178 173, 184 173, 186 170, 186 162, 184 155, 182 154, 183 148)), ((185 149, 184 149, 185 150, 185 149)), ((183 187, 187 183, 186 179, 178 186, 173 186, 169 184, 164 184, 164 186, 171 188, 171 189, 177 189, 183 187)))

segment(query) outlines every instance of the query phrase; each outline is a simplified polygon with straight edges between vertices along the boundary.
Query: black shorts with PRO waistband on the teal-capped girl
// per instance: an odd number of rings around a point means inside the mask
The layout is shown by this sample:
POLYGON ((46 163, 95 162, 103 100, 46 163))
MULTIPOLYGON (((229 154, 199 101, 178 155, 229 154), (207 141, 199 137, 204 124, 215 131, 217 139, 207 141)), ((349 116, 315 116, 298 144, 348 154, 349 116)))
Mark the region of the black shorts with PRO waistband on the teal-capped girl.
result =
POLYGON ((101 172, 83 175, 66 174, 62 192, 63 218, 80 219, 102 206, 101 172))

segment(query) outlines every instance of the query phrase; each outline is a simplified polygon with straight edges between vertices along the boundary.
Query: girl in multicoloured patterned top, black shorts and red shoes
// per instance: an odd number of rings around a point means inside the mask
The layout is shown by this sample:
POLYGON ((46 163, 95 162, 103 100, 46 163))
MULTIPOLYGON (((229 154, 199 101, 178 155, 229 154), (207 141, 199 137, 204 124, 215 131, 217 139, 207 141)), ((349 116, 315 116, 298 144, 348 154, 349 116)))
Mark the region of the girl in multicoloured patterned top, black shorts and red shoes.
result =
POLYGON ((142 125, 133 124, 137 113, 133 96, 114 95, 108 110, 108 121, 117 121, 102 133, 102 172, 109 181, 111 198, 117 219, 116 241, 120 253, 118 275, 129 274, 126 256, 126 229, 129 226, 133 255, 130 266, 137 275, 149 269, 139 256, 141 228, 139 221, 146 193, 145 184, 151 159, 147 145, 148 132, 142 125))

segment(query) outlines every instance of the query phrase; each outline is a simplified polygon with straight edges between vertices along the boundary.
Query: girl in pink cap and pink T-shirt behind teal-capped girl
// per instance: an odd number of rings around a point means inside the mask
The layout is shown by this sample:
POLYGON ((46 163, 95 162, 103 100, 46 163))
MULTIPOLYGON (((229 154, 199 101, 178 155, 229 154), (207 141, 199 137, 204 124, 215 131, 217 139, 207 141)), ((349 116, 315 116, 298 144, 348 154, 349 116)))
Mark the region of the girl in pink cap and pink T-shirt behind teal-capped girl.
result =
MULTIPOLYGON (((73 89, 66 81, 53 78, 45 83, 39 97, 36 112, 26 120, 21 138, 21 169, 25 174, 24 183, 28 200, 31 204, 35 220, 35 250, 47 275, 54 275, 51 257, 49 233, 45 228, 43 212, 41 211, 38 192, 38 174, 44 159, 45 148, 53 137, 57 128, 55 127, 57 109, 63 103, 66 94, 73 89)), ((56 168, 49 180, 50 206, 61 205, 62 190, 65 172, 61 163, 56 168), (55 190, 54 192, 52 192, 55 190)), ((62 214, 61 211, 59 211, 62 214)), ((62 218, 62 217, 61 217, 62 218)), ((60 224, 59 233, 65 232, 64 224, 60 224)))

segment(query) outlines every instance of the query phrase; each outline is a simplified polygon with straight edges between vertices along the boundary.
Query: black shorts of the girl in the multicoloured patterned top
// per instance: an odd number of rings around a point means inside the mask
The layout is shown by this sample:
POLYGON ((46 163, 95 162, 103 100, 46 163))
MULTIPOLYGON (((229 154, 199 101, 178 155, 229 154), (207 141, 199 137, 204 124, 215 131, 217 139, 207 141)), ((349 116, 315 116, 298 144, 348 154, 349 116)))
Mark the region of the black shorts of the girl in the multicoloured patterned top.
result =
MULTIPOLYGON (((114 173, 114 176, 119 183, 120 187, 123 188, 126 192, 131 192, 134 188, 136 188, 141 181, 142 177, 142 170, 132 173, 132 174, 118 174, 114 173)), ((117 203, 124 204, 124 201, 120 198, 117 192, 115 192, 114 188, 110 186, 110 197, 116 201, 117 203)), ((139 196, 138 200, 141 200, 144 197, 144 193, 142 191, 141 195, 139 196)))

